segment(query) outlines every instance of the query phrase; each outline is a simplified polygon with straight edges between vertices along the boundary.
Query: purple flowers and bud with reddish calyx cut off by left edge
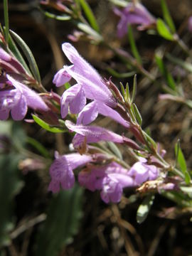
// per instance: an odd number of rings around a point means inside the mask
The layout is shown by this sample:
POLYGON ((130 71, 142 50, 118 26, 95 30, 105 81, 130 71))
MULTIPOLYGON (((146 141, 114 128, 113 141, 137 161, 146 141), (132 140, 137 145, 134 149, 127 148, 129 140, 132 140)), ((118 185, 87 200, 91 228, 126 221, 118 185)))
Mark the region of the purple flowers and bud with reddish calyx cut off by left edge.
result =
MULTIPOLYGON (((0 119, 6 120, 11 112, 14 120, 26 116, 28 107, 33 110, 48 111, 43 99, 23 82, 23 77, 31 79, 23 66, 0 47, 0 119)), ((27 83, 27 80, 26 80, 27 83)))

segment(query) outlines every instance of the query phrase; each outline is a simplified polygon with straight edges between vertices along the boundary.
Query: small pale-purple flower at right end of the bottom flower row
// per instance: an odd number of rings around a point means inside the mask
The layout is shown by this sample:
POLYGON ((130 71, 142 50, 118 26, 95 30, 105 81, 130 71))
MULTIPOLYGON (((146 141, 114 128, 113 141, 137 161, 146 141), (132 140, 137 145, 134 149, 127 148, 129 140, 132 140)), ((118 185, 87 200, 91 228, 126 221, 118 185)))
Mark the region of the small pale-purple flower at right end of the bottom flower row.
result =
POLYGON ((144 181, 155 180, 159 176, 159 170, 154 165, 146 164, 146 159, 140 157, 139 161, 129 170, 129 175, 134 178, 137 185, 140 185, 144 181))

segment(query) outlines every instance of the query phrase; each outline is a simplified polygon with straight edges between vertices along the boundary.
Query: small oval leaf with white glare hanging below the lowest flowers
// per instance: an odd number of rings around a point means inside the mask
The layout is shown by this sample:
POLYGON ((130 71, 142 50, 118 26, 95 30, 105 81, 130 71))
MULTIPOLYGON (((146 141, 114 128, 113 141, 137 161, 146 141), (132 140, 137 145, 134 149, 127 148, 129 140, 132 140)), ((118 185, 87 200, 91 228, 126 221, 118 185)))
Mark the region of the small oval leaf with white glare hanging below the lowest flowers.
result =
POLYGON ((149 214, 149 210, 154 203, 154 195, 149 195, 144 198, 144 201, 137 210, 137 223, 141 224, 149 214))

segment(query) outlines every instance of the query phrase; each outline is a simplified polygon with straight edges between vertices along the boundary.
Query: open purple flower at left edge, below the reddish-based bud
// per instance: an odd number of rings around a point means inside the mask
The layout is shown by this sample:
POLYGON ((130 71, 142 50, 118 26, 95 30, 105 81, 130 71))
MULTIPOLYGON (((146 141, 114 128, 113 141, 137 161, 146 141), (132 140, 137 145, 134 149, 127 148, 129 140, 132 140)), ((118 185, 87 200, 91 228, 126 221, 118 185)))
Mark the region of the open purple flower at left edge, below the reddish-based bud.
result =
POLYGON ((0 90, 1 120, 8 119, 9 112, 14 120, 21 120, 26 116, 27 107, 31 107, 33 110, 48 111, 46 103, 36 92, 11 78, 10 75, 6 75, 6 78, 14 88, 0 90))

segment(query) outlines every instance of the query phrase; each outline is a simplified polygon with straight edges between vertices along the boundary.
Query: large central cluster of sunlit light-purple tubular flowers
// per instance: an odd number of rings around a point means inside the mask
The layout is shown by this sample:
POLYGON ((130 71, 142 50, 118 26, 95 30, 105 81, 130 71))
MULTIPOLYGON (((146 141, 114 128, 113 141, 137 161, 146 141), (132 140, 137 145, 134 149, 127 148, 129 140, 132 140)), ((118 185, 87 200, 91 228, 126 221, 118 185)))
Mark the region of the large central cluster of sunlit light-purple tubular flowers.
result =
MULTIPOLYGON (((55 155, 55 161, 50 166, 51 182, 49 190, 57 192, 61 188, 68 189, 74 185, 75 178, 73 170, 85 166, 78 174, 78 181, 81 186, 90 191, 98 190, 105 203, 117 203, 122 197, 123 188, 140 186, 145 181, 155 180, 159 176, 159 169, 147 164, 146 159, 139 158, 132 168, 124 168, 111 156, 96 153, 90 154, 91 143, 101 141, 126 144, 132 149, 139 150, 139 145, 132 139, 115 134, 103 127, 88 125, 93 122, 98 114, 114 119, 119 124, 129 129, 132 124, 129 118, 119 112, 117 87, 110 90, 112 82, 102 80, 97 71, 90 66, 70 45, 63 43, 63 52, 72 65, 64 67, 55 74, 53 82, 61 86, 74 78, 75 85, 65 90, 60 100, 60 111, 63 118, 68 114, 78 114, 77 124, 65 121, 65 126, 71 132, 75 132, 73 138, 74 149, 80 153, 73 153, 63 156, 55 155), (86 104, 87 99, 90 100, 86 104), (110 161, 110 162, 109 162, 110 161)), ((122 109, 123 110, 123 109, 122 109)), ((132 127, 132 131, 137 131, 132 127)))

